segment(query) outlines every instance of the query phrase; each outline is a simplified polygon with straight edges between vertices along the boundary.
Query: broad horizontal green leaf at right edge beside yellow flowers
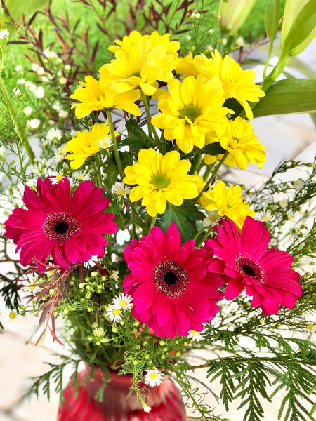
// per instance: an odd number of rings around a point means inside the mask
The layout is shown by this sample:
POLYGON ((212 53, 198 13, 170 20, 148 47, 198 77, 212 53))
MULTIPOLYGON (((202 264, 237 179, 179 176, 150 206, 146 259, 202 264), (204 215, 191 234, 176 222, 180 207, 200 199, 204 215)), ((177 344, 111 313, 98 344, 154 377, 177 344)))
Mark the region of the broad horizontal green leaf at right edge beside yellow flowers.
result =
POLYGON ((316 80, 277 81, 254 107, 254 117, 316 111, 316 80))

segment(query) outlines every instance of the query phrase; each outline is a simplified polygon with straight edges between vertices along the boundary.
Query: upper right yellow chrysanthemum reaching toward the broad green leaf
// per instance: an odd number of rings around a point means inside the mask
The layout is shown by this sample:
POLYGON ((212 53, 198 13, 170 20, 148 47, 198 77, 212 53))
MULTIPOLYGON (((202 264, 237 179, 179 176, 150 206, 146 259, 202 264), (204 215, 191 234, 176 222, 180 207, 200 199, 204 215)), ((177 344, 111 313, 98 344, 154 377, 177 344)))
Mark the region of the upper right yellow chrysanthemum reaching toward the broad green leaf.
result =
POLYGON ((207 79, 219 77, 223 83, 225 98, 235 98, 244 107, 248 119, 253 118, 253 113, 248 102, 258 102, 265 93, 261 86, 254 83, 256 73, 254 70, 243 70, 242 67, 229 55, 224 59, 216 50, 207 58, 201 54, 192 58, 187 56, 176 61, 176 71, 184 77, 197 72, 206 76, 207 79))

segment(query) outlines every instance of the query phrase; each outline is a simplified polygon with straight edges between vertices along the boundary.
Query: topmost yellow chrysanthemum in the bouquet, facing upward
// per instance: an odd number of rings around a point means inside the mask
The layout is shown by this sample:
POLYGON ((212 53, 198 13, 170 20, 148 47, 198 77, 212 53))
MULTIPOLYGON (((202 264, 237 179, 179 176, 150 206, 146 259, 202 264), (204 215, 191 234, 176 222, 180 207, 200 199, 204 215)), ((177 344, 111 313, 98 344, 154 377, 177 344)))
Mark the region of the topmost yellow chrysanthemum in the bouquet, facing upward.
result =
POLYGON ((133 31, 123 41, 116 41, 119 47, 111 46, 115 58, 103 65, 100 72, 102 86, 111 86, 117 93, 131 90, 140 98, 141 89, 145 95, 153 95, 158 81, 173 79, 174 61, 178 57, 178 42, 169 41, 169 35, 159 36, 157 32, 140 36, 133 31), (176 44, 175 44, 176 43, 176 44))

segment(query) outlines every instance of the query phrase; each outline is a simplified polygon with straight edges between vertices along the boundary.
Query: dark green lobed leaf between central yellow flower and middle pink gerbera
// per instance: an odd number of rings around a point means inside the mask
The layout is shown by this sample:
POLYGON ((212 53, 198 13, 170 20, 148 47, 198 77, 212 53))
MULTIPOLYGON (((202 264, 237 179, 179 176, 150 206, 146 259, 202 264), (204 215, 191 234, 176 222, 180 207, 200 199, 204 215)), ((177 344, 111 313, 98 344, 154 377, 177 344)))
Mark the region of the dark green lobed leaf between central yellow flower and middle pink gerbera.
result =
POLYGON ((192 239, 193 227, 189 219, 202 219, 204 214, 199 212, 194 205, 173 206, 167 203, 162 222, 162 229, 166 231, 172 222, 176 222, 182 241, 192 239))

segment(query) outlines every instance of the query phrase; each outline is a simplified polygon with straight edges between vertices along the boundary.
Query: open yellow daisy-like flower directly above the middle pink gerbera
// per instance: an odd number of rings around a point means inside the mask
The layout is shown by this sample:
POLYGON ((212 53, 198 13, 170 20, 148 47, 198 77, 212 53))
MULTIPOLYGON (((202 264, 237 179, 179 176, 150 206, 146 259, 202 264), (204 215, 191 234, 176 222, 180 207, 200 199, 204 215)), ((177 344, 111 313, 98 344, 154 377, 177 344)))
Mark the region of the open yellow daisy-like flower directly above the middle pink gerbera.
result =
POLYGON ((166 202, 180 206, 183 199, 197 196, 195 176, 187 175, 190 161, 180 161, 176 151, 162 155, 154 149, 140 149, 138 162, 125 168, 123 182, 134 185, 129 199, 134 202, 142 199, 150 216, 164 213, 166 202))

